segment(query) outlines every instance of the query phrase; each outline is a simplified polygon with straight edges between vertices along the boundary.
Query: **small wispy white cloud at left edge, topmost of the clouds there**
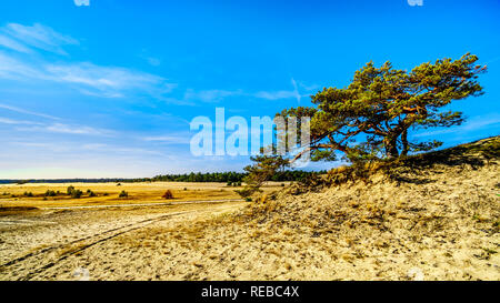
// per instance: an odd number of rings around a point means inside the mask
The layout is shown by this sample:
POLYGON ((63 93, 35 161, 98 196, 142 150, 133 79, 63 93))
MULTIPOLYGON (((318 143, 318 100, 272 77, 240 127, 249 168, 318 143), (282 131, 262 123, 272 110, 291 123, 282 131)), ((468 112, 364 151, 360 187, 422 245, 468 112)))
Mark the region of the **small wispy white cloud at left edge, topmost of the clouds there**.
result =
POLYGON ((9 23, 1 28, 0 31, 10 36, 10 38, 6 39, 7 43, 3 46, 21 52, 30 52, 29 48, 36 48, 58 54, 67 54, 62 48, 63 46, 79 44, 77 39, 56 32, 53 29, 40 23, 34 23, 33 26, 9 23))

